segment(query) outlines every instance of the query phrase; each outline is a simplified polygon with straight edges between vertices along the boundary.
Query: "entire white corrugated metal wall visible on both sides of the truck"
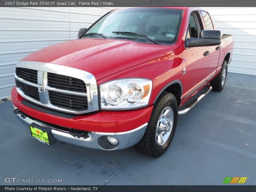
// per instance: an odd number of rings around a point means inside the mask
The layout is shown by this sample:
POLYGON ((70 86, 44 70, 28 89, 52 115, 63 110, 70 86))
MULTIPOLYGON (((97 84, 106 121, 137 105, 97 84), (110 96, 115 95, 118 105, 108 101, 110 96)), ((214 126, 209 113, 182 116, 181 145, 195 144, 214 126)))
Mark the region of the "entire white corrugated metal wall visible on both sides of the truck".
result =
MULTIPOLYGON (((43 47, 75 39, 111 7, 0 7, 0 99, 10 96, 15 64, 43 47)), ((233 34, 230 72, 256 75, 256 8, 206 8, 223 33, 233 34)))

